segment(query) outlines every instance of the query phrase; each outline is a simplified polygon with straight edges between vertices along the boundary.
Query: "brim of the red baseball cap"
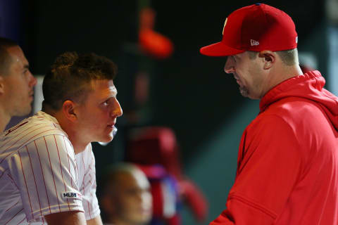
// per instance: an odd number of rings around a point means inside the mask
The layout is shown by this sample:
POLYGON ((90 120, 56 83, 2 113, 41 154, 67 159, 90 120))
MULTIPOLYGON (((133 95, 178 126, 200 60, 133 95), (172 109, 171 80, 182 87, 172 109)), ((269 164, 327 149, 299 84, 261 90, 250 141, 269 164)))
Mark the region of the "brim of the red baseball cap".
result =
POLYGON ((215 44, 210 44, 199 50, 199 52, 205 56, 232 56, 238 53, 242 53, 245 50, 234 49, 226 46, 221 41, 215 44))

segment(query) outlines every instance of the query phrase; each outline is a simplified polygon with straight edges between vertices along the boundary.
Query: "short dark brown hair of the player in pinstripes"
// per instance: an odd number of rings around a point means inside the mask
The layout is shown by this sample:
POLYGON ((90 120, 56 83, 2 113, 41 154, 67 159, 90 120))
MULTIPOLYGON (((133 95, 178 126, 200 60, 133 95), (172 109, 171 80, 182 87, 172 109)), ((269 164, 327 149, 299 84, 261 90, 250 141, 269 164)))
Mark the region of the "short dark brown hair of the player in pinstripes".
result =
POLYGON ((92 91, 93 80, 114 79, 117 70, 113 61, 94 53, 61 54, 44 77, 42 109, 59 110, 67 100, 83 103, 92 91))

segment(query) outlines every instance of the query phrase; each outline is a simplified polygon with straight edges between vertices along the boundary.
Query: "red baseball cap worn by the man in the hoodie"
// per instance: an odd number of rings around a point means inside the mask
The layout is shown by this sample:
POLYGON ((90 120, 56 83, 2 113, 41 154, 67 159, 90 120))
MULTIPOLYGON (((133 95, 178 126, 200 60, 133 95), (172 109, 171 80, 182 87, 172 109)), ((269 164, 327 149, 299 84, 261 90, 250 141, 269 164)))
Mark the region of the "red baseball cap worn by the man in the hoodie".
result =
POLYGON ((232 56, 244 51, 283 51, 297 47, 292 18, 278 8, 253 4, 232 12, 223 27, 222 41, 205 46, 206 56, 232 56))

